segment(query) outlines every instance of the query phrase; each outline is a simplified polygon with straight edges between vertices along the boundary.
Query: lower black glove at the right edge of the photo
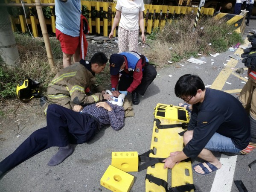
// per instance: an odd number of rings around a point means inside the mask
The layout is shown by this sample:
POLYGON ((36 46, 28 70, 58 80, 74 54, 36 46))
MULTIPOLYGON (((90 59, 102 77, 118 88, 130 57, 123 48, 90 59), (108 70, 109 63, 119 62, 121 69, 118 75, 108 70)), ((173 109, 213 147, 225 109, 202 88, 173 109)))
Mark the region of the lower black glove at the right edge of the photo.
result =
POLYGON ((242 60, 244 66, 252 68, 253 71, 256 71, 256 49, 244 49, 244 53, 241 55, 241 57, 244 58, 242 60))

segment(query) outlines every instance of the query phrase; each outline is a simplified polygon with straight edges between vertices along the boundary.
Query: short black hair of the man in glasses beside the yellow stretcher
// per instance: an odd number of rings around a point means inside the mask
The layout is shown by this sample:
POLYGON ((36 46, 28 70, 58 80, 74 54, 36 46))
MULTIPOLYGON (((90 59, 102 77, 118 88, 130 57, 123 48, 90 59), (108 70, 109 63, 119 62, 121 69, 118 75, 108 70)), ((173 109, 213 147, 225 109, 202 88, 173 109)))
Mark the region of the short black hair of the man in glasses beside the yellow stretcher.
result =
POLYGON ((204 82, 199 76, 186 74, 175 84, 175 95, 179 98, 195 96, 197 90, 205 90, 204 82))

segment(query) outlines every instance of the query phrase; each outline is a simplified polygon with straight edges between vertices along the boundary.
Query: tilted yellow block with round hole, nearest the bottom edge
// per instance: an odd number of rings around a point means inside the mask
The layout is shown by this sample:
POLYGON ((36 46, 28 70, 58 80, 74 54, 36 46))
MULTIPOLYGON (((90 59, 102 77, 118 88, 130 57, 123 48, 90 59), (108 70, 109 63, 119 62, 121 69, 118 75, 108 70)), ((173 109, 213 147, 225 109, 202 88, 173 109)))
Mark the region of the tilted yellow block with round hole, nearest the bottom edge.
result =
POLYGON ((134 176, 110 165, 102 176, 100 184, 114 192, 129 192, 134 184, 134 176))

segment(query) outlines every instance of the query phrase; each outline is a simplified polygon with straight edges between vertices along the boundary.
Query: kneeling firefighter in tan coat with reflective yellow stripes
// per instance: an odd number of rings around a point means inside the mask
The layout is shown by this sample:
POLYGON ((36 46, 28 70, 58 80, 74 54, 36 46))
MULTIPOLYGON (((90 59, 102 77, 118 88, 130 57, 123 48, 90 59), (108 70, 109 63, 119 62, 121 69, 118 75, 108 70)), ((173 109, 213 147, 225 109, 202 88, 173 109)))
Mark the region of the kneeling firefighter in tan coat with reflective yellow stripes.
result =
POLYGON ((97 84, 95 78, 95 73, 104 70, 107 62, 106 55, 97 52, 90 61, 81 59, 59 71, 48 85, 48 101, 45 97, 41 98, 44 113, 52 103, 73 109, 75 105, 84 106, 103 99, 110 100, 111 95, 104 94, 105 88, 97 84))

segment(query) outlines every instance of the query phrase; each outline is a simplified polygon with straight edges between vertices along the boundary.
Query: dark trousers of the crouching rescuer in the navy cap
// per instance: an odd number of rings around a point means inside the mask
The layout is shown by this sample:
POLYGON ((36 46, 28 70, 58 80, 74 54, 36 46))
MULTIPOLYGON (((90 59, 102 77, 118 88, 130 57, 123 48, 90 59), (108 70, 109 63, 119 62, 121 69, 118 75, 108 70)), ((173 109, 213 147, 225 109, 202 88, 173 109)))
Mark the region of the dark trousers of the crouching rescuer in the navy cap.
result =
MULTIPOLYGON (((136 73, 136 72, 134 72, 136 73)), ((139 86, 134 90, 134 92, 139 93, 140 95, 144 95, 145 91, 147 90, 148 86, 152 83, 152 81, 157 76, 157 71, 154 66, 152 65, 146 65, 143 69, 143 76, 141 83, 139 86)), ((120 77, 119 83, 118 83, 118 89, 120 91, 127 90, 128 87, 130 87, 131 83, 133 81, 133 76, 129 75, 122 75, 120 77)))

